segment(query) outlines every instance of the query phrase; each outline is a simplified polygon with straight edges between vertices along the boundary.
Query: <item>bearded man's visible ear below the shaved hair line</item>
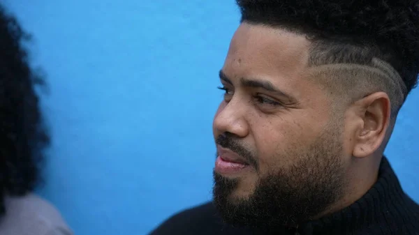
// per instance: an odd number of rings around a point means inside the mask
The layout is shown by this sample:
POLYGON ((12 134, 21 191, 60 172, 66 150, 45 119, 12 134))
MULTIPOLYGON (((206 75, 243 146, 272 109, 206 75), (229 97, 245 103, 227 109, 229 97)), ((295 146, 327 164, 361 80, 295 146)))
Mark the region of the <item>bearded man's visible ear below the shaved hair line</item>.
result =
POLYGON ((390 124, 390 98, 380 91, 358 100, 354 105, 360 125, 355 132, 352 155, 365 158, 383 144, 390 124))

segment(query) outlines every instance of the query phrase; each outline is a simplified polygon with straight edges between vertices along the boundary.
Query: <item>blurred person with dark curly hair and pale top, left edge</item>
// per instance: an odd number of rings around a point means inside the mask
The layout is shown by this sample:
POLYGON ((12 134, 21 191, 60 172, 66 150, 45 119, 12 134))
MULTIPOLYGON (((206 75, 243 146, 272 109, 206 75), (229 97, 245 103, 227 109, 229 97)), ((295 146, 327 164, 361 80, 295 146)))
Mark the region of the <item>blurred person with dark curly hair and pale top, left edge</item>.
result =
POLYGON ((71 235, 59 212, 32 193, 49 135, 29 67, 28 36, 0 6, 0 234, 71 235))

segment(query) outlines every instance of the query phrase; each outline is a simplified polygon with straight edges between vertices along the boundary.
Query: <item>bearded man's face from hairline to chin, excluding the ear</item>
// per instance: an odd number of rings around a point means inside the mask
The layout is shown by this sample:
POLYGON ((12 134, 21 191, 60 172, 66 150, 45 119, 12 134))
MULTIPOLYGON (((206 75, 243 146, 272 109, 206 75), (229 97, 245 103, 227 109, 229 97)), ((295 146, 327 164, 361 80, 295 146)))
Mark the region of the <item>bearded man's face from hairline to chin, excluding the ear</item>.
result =
MULTIPOLYGON (((214 202, 230 223, 296 225, 342 196, 344 123, 307 79, 309 41, 241 24, 221 70, 214 202)), ((347 151, 348 152, 348 151, 347 151)))

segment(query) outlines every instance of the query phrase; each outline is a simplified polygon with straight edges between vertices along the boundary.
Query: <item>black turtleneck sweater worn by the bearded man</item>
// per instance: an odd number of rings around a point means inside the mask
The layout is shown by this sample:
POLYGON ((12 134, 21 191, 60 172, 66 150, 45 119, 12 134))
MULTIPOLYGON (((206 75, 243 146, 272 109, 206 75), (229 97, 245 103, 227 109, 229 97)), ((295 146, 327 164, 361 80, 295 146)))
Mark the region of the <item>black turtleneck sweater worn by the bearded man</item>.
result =
MULTIPOLYGON (((221 221, 212 203, 178 213, 150 235, 230 235, 260 234, 221 221)), ((357 202, 337 213, 282 229, 284 235, 419 235, 419 205, 406 195, 388 160, 383 158, 378 180, 357 202)))

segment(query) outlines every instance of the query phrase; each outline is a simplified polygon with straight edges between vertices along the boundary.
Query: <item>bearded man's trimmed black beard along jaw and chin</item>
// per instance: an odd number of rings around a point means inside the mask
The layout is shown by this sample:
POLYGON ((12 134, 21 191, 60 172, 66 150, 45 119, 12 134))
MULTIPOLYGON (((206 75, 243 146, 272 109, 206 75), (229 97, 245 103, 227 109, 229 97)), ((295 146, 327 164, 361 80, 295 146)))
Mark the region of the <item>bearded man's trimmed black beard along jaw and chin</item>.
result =
POLYGON ((267 230, 297 227, 323 213, 341 198, 345 185, 336 144, 314 145, 291 167, 261 176, 245 198, 232 196, 240 179, 214 172, 214 204, 221 218, 230 225, 267 230))

